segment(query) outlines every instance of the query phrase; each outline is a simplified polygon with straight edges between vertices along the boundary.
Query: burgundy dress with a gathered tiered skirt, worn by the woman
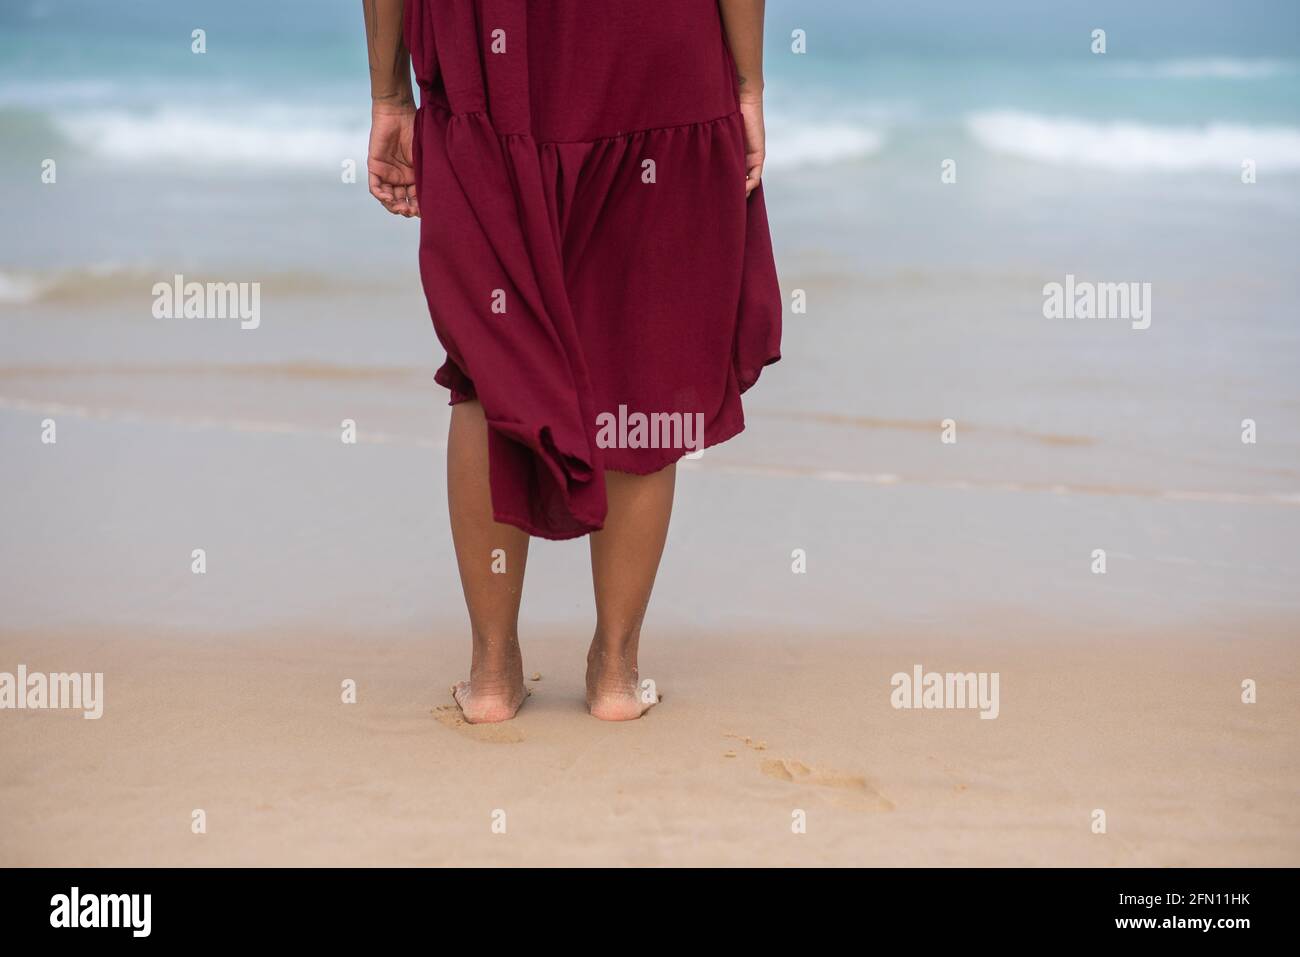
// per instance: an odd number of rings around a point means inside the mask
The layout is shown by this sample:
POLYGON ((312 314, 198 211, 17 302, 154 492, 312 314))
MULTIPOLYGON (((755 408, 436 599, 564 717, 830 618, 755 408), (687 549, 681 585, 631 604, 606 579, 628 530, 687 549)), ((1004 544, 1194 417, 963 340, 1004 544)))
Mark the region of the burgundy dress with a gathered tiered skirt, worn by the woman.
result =
POLYGON ((604 469, 690 451, 602 447, 599 416, 689 415, 714 445, 780 358, 716 3, 408 0, 406 39, 437 381, 482 403, 498 521, 597 531, 604 469))

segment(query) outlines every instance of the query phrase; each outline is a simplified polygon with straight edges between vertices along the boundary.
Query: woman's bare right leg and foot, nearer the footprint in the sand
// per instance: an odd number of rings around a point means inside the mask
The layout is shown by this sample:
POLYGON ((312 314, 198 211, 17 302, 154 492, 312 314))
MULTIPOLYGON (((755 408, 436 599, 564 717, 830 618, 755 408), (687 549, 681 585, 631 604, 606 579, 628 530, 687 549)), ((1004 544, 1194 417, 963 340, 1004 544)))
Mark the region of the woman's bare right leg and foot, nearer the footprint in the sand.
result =
POLYGON ((610 508, 604 528, 592 533, 595 637, 586 655, 586 706, 597 718, 640 718, 656 701, 640 687, 637 645, 668 537, 676 476, 676 465, 604 476, 610 508))

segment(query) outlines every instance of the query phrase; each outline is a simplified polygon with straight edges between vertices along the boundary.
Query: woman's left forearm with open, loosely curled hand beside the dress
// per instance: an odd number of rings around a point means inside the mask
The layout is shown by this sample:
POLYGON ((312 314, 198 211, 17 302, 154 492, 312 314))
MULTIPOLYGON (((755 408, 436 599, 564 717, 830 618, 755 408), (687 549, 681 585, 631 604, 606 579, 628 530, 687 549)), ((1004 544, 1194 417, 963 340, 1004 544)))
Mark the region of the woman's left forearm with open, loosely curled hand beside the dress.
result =
POLYGON ((415 195, 415 96, 402 36, 403 0, 361 0, 370 51, 370 195, 398 216, 419 216, 415 195))

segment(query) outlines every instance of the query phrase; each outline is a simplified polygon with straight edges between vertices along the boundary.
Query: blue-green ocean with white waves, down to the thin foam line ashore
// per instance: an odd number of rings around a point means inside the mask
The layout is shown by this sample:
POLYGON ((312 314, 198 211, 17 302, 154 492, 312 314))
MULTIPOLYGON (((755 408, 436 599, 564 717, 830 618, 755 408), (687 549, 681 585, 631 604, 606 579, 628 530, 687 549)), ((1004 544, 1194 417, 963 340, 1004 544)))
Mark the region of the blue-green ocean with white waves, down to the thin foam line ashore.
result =
MULTIPOLYGON (((748 397, 758 437, 723 454, 1300 505, 1297 27, 1290 0, 771 0, 764 189, 807 308, 748 397), (1152 283, 1150 328, 1044 317, 1066 276, 1152 283)), ((367 124, 358 3, 5 4, 0 398, 112 412, 156 404, 159 369, 214 395, 257 369, 430 372, 416 224, 341 177, 367 124), (160 325, 150 289, 176 273, 261 281, 263 328, 160 325)), ((220 415, 181 391, 168 410, 220 415)))

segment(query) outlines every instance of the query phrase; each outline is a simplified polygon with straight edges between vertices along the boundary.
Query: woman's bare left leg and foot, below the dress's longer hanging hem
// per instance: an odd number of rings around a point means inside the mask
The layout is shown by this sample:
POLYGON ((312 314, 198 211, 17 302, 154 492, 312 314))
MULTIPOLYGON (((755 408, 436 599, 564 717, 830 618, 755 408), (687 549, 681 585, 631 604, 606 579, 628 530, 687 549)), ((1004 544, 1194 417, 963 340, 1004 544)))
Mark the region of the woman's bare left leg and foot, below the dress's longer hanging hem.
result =
POLYGON ((528 697, 519 650, 528 533, 493 520, 488 420, 477 402, 462 402, 451 410, 447 507, 473 635, 469 680, 458 683, 451 693, 467 722, 508 720, 528 697))

